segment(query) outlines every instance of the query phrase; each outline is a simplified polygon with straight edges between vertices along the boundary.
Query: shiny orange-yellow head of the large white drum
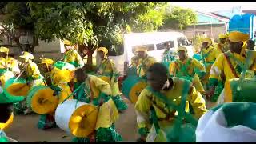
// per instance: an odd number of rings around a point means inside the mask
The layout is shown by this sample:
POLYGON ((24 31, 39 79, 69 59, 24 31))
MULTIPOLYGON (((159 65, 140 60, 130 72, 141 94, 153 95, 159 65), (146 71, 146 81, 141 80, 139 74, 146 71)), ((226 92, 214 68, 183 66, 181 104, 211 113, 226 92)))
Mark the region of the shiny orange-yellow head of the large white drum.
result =
POLYGON ((71 134, 78 138, 85 138, 94 132, 98 115, 98 107, 86 104, 79 106, 70 117, 69 128, 71 134))

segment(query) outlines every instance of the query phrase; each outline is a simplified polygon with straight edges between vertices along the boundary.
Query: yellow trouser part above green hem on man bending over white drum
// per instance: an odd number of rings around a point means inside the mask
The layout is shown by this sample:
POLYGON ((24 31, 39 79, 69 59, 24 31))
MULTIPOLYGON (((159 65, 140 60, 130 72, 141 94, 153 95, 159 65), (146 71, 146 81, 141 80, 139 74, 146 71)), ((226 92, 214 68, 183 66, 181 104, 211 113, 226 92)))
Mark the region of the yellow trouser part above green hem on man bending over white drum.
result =
POLYGON ((108 102, 103 103, 103 105, 99 108, 95 130, 98 130, 100 127, 110 127, 114 122, 118 120, 118 118, 118 109, 115 106, 112 98, 110 98, 108 102))

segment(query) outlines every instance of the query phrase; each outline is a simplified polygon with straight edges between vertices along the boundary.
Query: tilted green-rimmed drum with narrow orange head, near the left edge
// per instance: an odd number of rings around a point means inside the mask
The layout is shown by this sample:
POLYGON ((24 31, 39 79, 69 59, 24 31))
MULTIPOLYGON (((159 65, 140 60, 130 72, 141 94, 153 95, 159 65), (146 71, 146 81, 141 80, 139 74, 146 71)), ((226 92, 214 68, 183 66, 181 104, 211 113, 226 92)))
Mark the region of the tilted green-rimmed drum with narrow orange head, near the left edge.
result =
POLYGON ((26 84, 25 79, 16 79, 13 77, 7 80, 3 92, 7 98, 13 99, 14 101, 22 101, 29 93, 29 90, 30 86, 26 84))

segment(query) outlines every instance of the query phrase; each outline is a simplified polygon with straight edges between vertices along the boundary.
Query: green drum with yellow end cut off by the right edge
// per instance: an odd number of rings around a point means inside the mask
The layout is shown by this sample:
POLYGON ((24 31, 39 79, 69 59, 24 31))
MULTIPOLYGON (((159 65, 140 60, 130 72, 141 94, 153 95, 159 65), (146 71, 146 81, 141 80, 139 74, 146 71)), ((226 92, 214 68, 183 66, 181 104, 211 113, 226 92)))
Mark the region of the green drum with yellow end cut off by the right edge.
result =
POLYGON ((245 78, 242 84, 239 78, 227 80, 225 83, 224 102, 256 102, 255 90, 256 78, 245 78))

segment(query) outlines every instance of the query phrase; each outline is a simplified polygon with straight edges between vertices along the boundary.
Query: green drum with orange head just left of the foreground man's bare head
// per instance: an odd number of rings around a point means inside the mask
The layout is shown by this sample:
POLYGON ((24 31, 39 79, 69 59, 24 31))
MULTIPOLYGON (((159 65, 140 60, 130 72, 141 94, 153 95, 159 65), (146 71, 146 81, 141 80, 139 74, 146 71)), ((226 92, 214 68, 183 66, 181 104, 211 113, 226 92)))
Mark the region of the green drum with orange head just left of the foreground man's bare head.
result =
POLYGON ((146 80, 139 78, 136 75, 129 75, 122 83, 122 93, 132 103, 136 103, 139 94, 147 86, 146 80))

